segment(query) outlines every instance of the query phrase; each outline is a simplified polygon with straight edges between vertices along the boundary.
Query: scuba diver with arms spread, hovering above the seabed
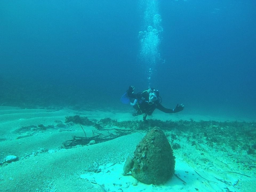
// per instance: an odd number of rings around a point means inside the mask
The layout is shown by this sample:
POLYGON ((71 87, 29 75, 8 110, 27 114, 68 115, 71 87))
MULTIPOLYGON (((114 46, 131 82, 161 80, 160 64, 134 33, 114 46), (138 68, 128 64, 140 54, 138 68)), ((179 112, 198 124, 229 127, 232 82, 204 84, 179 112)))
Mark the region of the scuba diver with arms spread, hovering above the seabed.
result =
MULTIPOLYGON (((137 113, 134 113, 133 116, 143 115, 143 120, 145 121, 147 115, 151 115, 155 109, 159 109, 165 113, 177 113, 184 109, 184 105, 177 104, 175 109, 167 109, 163 107, 160 103, 162 98, 159 96, 159 91, 154 88, 147 89, 142 93, 134 93, 134 86, 130 86, 126 91, 126 97, 128 96, 130 104, 134 109, 137 110, 137 113)), ((123 95, 123 97, 125 96, 123 95)))

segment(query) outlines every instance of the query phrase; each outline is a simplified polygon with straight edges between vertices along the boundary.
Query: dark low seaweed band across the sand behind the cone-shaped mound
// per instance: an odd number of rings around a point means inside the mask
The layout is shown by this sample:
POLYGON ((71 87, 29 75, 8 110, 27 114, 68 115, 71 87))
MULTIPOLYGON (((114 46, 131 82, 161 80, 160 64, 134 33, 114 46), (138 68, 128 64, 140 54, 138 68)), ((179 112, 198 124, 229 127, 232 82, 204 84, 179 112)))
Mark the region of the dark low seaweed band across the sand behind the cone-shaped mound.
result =
MULTIPOLYGON (((75 117, 81 119, 79 115, 75 117)), ((239 148, 247 152, 250 156, 254 157, 256 154, 256 144, 255 139, 253 139, 256 137, 256 124, 251 122, 194 121, 193 119, 190 119, 190 121, 161 121, 155 119, 149 119, 147 121, 117 121, 110 118, 92 122, 87 117, 83 118, 88 120, 90 125, 93 125, 98 132, 93 131, 94 135, 91 138, 73 136, 73 139, 69 141, 69 143, 72 143, 71 146, 78 145, 78 143, 88 145, 89 142, 94 139, 97 140, 95 140, 96 143, 104 142, 125 135, 125 130, 131 134, 133 133, 131 131, 144 132, 157 126, 163 131, 172 131, 172 133, 169 134, 172 143, 174 140, 178 139, 177 135, 182 135, 182 137, 187 138, 187 141, 190 142, 192 146, 197 146, 197 143, 205 143, 209 147, 218 147, 221 151, 237 150, 237 148, 239 148), (122 133, 113 133, 117 130, 121 130, 122 133), (109 134, 104 134, 106 131, 109 131, 109 134)), ((85 123, 81 123, 81 125, 83 124, 85 123)), ((175 147, 178 146, 174 146, 174 148, 175 147)), ((239 161, 249 167, 250 161, 244 162, 243 160, 244 159, 239 159, 239 161)))

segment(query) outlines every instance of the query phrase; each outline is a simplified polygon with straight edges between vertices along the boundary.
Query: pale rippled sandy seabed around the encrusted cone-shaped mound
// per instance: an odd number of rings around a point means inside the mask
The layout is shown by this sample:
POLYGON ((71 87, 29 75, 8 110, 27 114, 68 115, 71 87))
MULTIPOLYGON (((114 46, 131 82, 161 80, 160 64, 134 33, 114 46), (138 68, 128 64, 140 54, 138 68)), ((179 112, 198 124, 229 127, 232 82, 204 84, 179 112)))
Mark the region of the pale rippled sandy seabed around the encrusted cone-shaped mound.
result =
MULTIPOLYGON (((141 120, 141 116, 133 117, 132 112, 0 107, 0 191, 256 191, 255 154, 248 154, 239 146, 229 150, 225 146, 209 146, 207 142, 195 143, 188 140, 189 133, 164 131, 171 146, 176 143, 180 148, 174 150, 177 177, 159 186, 145 185, 132 176, 122 175, 127 156, 133 154, 145 130, 93 145, 63 147, 63 142, 72 136, 85 135, 79 124, 65 123, 65 117, 78 114, 93 121, 141 120), (171 135, 175 135, 174 140, 171 135), (7 155, 18 159, 7 163, 7 155)), ((150 118, 255 122, 255 119, 161 112, 150 118)), ((92 136, 92 130, 98 131, 94 126, 83 129, 87 137, 92 136)))

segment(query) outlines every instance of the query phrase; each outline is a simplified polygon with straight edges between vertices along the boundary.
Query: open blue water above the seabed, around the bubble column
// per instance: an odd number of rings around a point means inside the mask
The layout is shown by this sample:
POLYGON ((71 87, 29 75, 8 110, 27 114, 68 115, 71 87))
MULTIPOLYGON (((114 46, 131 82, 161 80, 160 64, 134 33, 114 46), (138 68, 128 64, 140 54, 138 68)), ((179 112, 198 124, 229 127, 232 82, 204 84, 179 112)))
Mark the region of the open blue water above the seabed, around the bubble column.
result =
MULTIPOLYGON (((146 0, 145 0, 146 1, 146 0)), ((181 113, 256 115, 255 1, 158 2, 162 40, 151 84, 181 113)), ((139 1, 0 1, 0 105, 130 109, 148 88, 138 61, 139 1)))

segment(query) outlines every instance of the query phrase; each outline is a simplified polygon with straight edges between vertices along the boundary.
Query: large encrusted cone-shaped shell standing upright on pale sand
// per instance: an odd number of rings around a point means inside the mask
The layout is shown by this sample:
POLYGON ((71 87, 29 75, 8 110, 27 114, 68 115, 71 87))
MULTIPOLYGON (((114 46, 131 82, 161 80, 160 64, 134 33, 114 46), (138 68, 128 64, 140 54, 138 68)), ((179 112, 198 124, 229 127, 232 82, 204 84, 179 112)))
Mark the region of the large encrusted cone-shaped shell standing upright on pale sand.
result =
POLYGON ((175 157, 165 134, 158 127, 150 130, 139 142, 134 157, 128 157, 125 173, 146 184, 163 184, 174 174, 175 157))

